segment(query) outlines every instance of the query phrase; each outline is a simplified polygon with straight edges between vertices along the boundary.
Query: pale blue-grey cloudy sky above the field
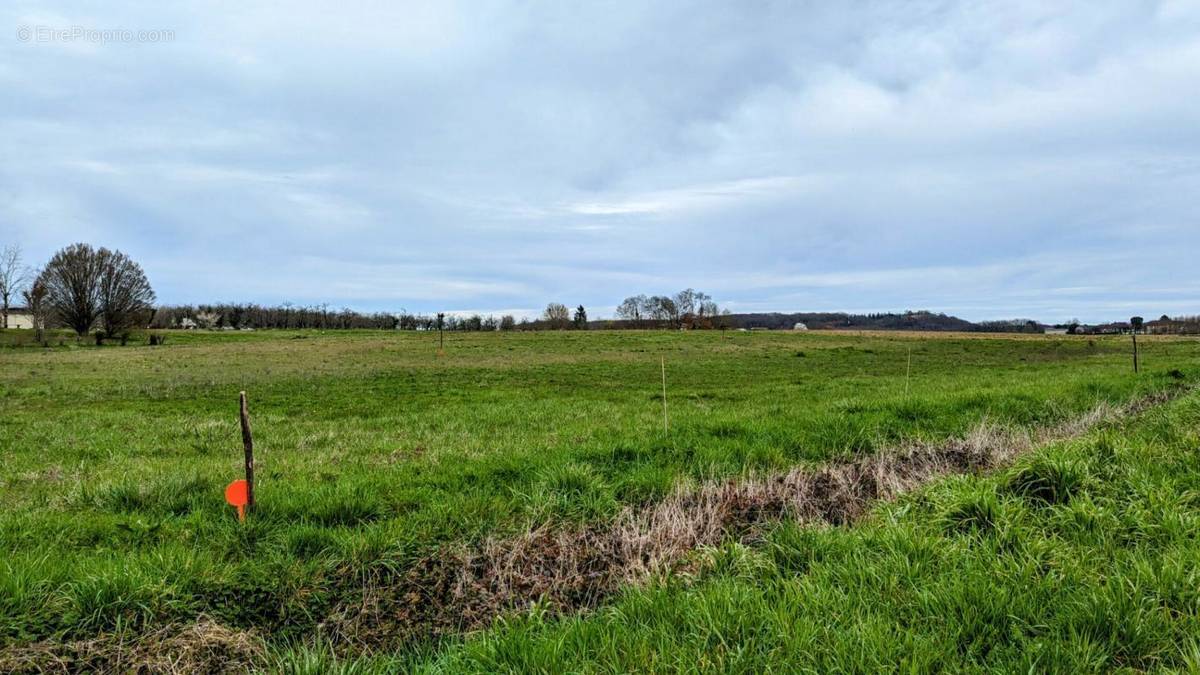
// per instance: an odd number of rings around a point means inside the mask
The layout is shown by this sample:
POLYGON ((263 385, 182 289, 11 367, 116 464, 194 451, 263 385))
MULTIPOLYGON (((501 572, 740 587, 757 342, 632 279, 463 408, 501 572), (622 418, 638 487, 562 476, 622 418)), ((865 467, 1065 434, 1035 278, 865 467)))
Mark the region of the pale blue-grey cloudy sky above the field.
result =
POLYGON ((1200 313, 1200 2, 0 7, 0 245, 158 301, 1200 313))

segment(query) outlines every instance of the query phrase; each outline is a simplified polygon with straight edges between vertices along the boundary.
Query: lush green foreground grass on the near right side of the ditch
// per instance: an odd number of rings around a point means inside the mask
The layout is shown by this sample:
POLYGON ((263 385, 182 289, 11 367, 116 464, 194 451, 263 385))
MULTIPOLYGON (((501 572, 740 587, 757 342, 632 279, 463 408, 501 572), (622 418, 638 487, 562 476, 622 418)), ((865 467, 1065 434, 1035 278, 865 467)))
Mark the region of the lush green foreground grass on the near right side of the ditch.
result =
MULTIPOLYGON (((592 615, 505 621, 420 665, 1195 671, 1198 429, 1200 398, 1192 395, 1001 474, 937 482, 851 528, 785 524, 760 546, 707 551, 701 573, 631 590, 592 615)), ((300 662, 294 656, 280 658, 300 662)), ((310 653, 329 665, 322 656, 310 653)))

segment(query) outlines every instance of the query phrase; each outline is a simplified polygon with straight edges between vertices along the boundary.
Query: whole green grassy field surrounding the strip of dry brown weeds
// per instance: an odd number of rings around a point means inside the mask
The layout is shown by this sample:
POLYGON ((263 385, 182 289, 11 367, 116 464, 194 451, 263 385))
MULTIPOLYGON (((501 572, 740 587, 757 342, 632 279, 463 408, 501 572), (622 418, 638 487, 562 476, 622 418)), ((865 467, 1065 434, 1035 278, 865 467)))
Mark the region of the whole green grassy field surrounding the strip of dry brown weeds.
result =
POLYGON ((518 589, 457 625, 379 620, 386 603, 354 621, 430 561, 600 531, 677 490, 1178 393, 1200 378, 1195 340, 1146 339, 1134 376, 1128 338, 497 333, 439 354, 409 333, 49 350, 16 333, 0 334, 0 669, 1200 667, 1190 393, 854 522, 766 519, 602 597, 518 589), (242 389, 246 524, 222 500, 242 389))

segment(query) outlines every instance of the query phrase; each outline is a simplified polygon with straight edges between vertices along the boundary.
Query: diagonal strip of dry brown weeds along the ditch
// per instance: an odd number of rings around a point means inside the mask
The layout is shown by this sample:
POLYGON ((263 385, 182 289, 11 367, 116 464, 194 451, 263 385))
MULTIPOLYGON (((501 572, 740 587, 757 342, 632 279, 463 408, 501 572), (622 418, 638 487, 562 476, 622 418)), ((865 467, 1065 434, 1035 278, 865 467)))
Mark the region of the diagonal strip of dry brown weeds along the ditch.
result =
POLYGON ((877 500, 940 476, 1007 464, 1039 444, 1079 436, 1182 392, 1100 405, 1034 432, 980 424, 966 437, 938 444, 682 489, 652 507, 626 509, 608 524, 542 527, 478 548, 445 548, 398 577, 366 580, 355 602, 338 607, 322 625, 323 637, 350 650, 386 650, 484 628, 533 602, 558 613, 594 608, 624 585, 678 568, 698 548, 730 538, 752 540, 764 525, 784 519, 853 522, 877 500))

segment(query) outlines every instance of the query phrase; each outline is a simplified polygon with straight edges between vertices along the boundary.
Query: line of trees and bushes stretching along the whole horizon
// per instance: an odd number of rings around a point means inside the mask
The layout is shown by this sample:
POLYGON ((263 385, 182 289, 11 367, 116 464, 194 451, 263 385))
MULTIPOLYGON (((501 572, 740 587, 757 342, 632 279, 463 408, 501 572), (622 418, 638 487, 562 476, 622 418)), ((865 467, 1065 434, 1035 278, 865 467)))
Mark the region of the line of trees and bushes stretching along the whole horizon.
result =
MULTIPOLYGON (((137 328, 202 329, 384 329, 384 330, 586 330, 589 328, 768 328, 787 329, 803 323, 810 329, 965 330, 986 333, 1040 333, 1032 319, 972 323, 931 311, 851 315, 844 312, 731 315, 713 298, 695 288, 673 295, 630 295, 617 307, 617 318, 592 321, 583 305, 574 310, 550 303, 538 318, 517 321, 512 315, 456 316, 400 312, 358 312, 329 305, 266 306, 246 303, 166 305, 155 307, 155 293, 142 267, 118 250, 73 244, 41 268, 23 264, 18 246, 0 249, 0 328, 8 328, 16 303, 31 315, 37 340, 44 330, 65 327, 78 335, 95 331, 96 341, 126 339, 137 328)), ((1117 324, 1112 324, 1117 327, 1117 324)), ((1121 324, 1126 325, 1126 324, 1121 324)), ((1078 321, 1070 328, 1084 328, 1078 321)), ((1099 327, 1105 328, 1105 327, 1099 327)), ((1102 331, 1099 328, 1094 331, 1102 331)), ((1163 334, 1200 333, 1200 317, 1162 316, 1142 330, 1163 334)), ((1093 330, 1088 330, 1093 331, 1093 330)))

